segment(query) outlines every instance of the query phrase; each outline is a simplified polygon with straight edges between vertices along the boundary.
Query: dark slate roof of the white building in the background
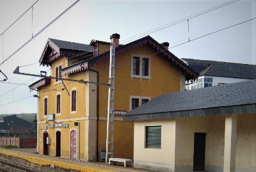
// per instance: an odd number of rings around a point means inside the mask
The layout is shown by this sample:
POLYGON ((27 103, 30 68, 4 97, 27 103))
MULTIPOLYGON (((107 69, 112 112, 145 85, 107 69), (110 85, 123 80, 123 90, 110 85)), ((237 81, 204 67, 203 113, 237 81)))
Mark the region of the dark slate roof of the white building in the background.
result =
POLYGON ((199 76, 256 79, 256 65, 188 58, 182 58, 182 61, 198 72, 199 76))

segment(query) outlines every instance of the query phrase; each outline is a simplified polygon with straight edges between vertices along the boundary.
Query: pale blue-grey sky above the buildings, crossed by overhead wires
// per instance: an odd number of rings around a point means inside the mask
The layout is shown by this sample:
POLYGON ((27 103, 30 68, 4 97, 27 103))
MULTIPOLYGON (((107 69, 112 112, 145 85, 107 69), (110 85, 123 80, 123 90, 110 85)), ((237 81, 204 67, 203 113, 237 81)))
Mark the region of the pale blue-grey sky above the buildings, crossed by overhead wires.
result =
POLYGON ((81 0, 9 58, 75 2, 0 1, 0 34, 4 33, 0 36, 0 70, 8 77, 3 82, 5 77, 0 73, 0 114, 37 112, 36 91, 29 91, 28 85, 40 78, 13 71, 17 66, 28 74, 49 69, 38 63, 48 38, 89 44, 91 40, 109 42, 109 36, 118 33, 120 43, 125 44, 150 35, 159 43, 169 42, 169 51, 178 58, 256 65, 255 0, 81 0), (29 9, 34 3, 33 10, 29 9))

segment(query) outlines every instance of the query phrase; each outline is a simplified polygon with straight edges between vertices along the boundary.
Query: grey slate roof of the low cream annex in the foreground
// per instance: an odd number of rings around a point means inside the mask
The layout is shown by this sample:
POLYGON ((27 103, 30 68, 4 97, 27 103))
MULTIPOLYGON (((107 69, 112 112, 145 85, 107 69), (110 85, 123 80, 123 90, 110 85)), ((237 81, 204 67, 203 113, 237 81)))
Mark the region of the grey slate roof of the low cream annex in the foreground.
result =
POLYGON ((124 115, 125 121, 256 113, 256 80, 160 95, 124 115))

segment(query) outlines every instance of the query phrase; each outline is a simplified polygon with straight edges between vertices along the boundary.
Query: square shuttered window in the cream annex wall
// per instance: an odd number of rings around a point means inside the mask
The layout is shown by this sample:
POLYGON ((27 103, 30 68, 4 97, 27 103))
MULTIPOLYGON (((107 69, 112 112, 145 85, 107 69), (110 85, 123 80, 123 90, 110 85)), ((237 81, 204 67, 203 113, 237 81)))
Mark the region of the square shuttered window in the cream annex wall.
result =
POLYGON ((146 127, 145 148, 161 149, 161 126, 146 127))

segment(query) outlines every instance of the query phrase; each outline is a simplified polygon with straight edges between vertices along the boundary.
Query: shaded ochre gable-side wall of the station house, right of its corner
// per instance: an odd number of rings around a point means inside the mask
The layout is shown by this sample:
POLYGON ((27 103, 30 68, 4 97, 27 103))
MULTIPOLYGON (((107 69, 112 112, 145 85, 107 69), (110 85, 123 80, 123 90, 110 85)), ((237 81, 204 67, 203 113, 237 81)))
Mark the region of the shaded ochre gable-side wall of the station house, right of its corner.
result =
MULTIPOLYGON (((147 45, 134 48, 115 58, 115 109, 130 111, 130 96, 150 97, 180 91, 180 71, 167 59, 154 54, 147 45), (151 58, 151 79, 131 78, 132 54, 151 58)), ((95 61, 90 68, 99 71, 99 82, 108 83, 109 58, 95 61)), ((184 77, 184 75, 182 75, 184 77)), ((183 78, 182 78, 183 79, 183 78)), ((99 148, 106 148, 108 87, 99 86, 99 148)), ((122 118, 122 117, 116 117, 122 118)), ((116 119, 114 124, 114 157, 133 159, 133 122, 116 119)))

